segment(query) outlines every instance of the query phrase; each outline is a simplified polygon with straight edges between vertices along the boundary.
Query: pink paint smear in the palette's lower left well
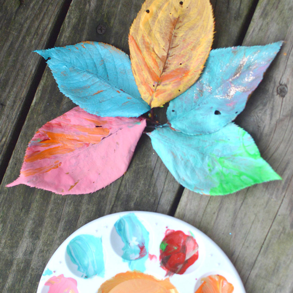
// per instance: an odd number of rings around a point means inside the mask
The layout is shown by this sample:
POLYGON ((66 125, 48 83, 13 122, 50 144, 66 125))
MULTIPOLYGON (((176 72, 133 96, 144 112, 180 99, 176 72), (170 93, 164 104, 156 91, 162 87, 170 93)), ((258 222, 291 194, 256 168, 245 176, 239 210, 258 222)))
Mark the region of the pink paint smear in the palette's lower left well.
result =
POLYGON ((76 280, 63 274, 51 277, 45 285, 50 287, 48 293, 79 293, 76 280))

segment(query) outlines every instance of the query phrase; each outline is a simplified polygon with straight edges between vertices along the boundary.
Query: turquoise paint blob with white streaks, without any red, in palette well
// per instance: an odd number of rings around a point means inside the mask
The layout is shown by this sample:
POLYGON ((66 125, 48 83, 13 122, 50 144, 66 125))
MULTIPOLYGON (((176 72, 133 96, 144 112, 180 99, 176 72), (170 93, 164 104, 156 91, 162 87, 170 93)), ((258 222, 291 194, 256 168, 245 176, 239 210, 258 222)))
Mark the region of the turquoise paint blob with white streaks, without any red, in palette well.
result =
POLYGON ((95 275, 104 277, 105 265, 102 238, 93 235, 79 235, 67 245, 67 254, 72 263, 78 266, 83 278, 91 278, 95 275))

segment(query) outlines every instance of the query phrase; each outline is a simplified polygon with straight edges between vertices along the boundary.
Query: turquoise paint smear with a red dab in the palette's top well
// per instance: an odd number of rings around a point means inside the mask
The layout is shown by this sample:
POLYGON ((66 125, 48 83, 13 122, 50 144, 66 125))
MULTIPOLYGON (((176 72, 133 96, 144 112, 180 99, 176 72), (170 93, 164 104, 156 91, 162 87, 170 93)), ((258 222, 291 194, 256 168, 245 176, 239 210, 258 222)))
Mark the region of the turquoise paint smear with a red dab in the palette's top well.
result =
POLYGON ((133 213, 121 217, 114 226, 124 243, 123 260, 131 270, 144 272, 149 256, 149 232, 133 213))

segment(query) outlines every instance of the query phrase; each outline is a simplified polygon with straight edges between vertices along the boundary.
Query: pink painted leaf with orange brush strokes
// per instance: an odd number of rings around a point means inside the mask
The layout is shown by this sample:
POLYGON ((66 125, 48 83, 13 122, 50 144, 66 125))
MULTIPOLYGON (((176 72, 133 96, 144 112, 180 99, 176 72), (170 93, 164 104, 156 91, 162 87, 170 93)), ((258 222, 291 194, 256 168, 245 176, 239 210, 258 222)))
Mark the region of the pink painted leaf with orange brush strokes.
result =
POLYGON ((125 173, 145 125, 143 118, 103 118, 73 108, 36 132, 20 176, 7 186, 62 195, 94 192, 125 173))

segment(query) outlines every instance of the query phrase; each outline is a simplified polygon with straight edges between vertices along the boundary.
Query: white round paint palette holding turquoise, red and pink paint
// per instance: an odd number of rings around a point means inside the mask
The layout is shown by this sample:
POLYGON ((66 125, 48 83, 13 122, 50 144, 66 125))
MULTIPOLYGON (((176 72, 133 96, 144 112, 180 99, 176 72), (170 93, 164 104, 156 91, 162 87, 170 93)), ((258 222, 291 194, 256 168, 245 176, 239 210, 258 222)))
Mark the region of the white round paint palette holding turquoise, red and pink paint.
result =
POLYGON ((168 278, 179 293, 204 292, 203 280, 220 275, 233 293, 245 293, 233 264, 209 237, 153 212, 110 214, 76 230, 47 263, 37 293, 96 293, 105 281, 132 271, 168 278))

